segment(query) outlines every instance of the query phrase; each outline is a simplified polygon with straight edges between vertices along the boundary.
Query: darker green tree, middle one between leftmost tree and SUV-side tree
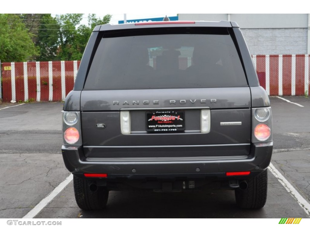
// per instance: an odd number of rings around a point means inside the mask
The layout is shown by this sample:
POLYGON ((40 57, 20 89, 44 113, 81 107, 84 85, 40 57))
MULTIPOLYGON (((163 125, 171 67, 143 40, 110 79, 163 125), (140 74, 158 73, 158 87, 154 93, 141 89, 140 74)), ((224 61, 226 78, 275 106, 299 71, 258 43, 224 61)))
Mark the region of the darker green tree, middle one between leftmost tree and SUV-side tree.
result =
POLYGON ((60 25, 51 14, 21 14, 26 27, 33 34, 32 41, 39 48, 37 61, 57 59, 60 25))

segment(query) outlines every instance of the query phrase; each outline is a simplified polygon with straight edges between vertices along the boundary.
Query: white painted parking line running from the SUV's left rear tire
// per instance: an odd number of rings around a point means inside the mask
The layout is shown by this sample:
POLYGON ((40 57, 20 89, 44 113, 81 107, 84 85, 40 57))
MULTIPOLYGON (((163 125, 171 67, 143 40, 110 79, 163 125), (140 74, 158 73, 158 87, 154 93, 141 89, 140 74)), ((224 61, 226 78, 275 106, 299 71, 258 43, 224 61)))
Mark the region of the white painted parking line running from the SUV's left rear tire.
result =
POLYGON ((47 206, 63 189, 73 180, 73 175, 70 174, 63 182, 61 182, 53 191, 51 191, 43 200, 41 200, 32 210, 29 211, 23 218, 33 218, 47 206))

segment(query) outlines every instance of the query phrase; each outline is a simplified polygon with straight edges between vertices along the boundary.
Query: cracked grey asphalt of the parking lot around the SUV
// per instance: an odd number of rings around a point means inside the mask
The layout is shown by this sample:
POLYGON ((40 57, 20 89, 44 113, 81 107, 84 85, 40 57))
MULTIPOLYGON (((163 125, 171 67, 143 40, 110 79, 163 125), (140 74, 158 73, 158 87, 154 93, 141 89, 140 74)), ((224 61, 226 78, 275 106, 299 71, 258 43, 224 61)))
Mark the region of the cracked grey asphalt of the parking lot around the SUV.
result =
MULTIPOLYGON (((271 97, 273 165, 310 202, 310 99, 271 97)), ((16 105, 16 104, 14 104, 16 105)), ((24 217, 69 172, 61 156, 61 102, 0 110, 0 218, 24 217)), ((9 106, 9 105, 6 105, 9 106)), ((0 109, 3 108, 0 105, 0 109)), ((268 199, 260 210, 237 208, 233 191, 109 193, 107 208, 78 208, 70 182, 36 218, 281 218, 309 217, 268 171, 268 199)))

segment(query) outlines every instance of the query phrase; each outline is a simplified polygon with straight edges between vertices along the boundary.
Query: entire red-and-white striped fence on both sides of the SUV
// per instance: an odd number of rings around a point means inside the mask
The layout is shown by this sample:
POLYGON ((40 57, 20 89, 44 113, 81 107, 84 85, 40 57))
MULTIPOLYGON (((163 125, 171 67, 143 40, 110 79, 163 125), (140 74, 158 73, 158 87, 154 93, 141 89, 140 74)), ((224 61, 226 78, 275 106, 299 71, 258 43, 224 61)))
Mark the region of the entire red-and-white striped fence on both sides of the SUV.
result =
MULTIPOLYGON (((271 96, 309 94, 308 54, 253 55, 260 85, 271 96)), ((180 65, 182 59, 180 59, 180 65)), ((3 101, 64 101, 80 61, 2 63, 3 101)))

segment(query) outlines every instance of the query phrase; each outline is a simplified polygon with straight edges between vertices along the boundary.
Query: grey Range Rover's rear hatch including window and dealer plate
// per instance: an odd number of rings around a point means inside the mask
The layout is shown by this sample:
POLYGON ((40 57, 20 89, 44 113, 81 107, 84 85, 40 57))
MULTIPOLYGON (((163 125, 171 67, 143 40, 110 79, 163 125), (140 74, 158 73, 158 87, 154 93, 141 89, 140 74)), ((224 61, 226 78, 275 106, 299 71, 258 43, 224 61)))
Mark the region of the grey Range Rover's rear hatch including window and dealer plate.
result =
POLYGON ((248 155, 251 94, 231 34, 231 28, 100 34, 81 94, 85 156, 248 155), (121 112, 129 132, 122 133, 121 112))

